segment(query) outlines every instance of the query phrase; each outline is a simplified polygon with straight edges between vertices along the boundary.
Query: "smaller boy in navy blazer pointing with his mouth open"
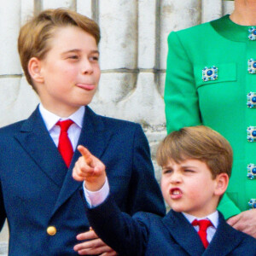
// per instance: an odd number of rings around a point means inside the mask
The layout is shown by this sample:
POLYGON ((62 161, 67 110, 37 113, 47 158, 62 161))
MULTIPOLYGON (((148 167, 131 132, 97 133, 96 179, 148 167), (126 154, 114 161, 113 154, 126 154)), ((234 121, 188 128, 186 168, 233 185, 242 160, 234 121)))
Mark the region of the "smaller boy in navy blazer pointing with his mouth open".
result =
POLYGON ((79 151, 83 156, 73 177, 84 180, 90 224, 120 255, 256 255, 256 240, 226 224, 216 210, 232 166, 230 144, 218 132, 186 127, 160 144, 161 190, 172 208, 164 218, 148 212, 131 218, 121 212, 108 196, 102 161, 82 146, 79 151))

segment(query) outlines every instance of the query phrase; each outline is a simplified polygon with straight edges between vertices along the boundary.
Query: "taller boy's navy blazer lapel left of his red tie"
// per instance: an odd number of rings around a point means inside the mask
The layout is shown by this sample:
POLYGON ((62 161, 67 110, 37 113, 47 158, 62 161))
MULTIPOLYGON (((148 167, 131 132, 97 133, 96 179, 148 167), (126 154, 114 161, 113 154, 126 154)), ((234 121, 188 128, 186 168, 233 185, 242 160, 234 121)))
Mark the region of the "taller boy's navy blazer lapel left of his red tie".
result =
POLYGON ((38 108, 24 121, 15 139, 36 162, 42 172, 61 188, 67 167, 49 136, 38 108))

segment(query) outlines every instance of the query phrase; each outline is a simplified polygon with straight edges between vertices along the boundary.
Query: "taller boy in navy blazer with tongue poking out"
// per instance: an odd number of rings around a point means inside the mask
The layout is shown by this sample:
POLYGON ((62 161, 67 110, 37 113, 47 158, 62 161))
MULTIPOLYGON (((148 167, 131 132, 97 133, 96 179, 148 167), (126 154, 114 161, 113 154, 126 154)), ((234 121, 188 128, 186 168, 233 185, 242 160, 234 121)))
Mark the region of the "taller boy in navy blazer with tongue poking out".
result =
POLYGON ((122 211, 165 214, 141 126, 87 107, 101 75, 99 40, 95 21, 67 9, 44 10, 20 29, 20 61, 41 103, 0 129, 0 229, 7 218, 9 255, 115 254, 89 231, 82 183, 72 177, 78 144, 108 166, 122 211))

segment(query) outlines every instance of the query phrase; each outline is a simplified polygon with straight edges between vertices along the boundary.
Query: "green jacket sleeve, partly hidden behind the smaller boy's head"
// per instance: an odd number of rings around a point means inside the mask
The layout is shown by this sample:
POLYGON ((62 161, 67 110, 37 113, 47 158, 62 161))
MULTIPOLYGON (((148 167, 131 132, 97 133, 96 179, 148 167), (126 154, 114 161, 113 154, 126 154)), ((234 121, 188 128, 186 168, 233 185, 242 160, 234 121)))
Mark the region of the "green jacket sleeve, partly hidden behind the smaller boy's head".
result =
MULTIPOLYGON (((164 97, 168 133, 184 126, 204 125, 201 122, 195 85, 194 63, 189 59, 189 50, 183 45, 183 41, 178 37, 177 32, 171 32, 168 37, 164 97)), ((241 212, 227 194, 224 194, 218 210, 224 214, 224 218, 230 218, 241 212)))

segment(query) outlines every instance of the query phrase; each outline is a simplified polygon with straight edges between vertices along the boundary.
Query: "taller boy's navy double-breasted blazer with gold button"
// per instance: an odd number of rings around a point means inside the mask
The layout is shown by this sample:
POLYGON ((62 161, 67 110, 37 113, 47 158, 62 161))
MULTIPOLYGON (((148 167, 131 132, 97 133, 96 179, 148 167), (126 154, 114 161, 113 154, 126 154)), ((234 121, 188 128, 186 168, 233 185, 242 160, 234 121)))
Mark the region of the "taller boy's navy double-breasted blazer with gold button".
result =
MULTIPOLYGON (((111 194, 122 211, 166 212, 140 125, 102 117, 86 107, 79 144, 106 165, 111 194)), ((89 230, 72 177, 38 108, 29 119, 0 129, 0 229, 9 223, 9 255, 77 255, 76 236, 89 230), (47 227, 55 226, 55 236, 47 227)))

